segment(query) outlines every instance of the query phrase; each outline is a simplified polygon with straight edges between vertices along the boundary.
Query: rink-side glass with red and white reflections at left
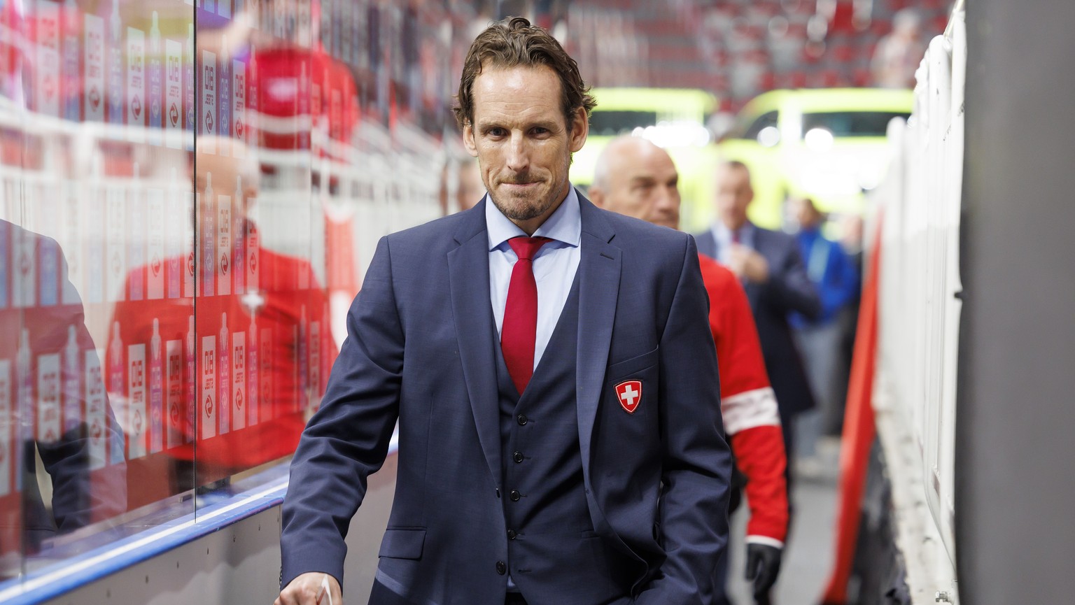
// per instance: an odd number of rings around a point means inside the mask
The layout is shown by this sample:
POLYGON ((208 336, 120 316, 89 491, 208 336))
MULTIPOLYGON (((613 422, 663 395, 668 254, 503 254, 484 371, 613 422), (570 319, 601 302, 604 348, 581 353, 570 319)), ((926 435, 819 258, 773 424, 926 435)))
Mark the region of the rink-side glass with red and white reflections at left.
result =
POLYGON ((286 461, 377 239, 481 197, 479 4, 0 6, 0 579, 286 461))

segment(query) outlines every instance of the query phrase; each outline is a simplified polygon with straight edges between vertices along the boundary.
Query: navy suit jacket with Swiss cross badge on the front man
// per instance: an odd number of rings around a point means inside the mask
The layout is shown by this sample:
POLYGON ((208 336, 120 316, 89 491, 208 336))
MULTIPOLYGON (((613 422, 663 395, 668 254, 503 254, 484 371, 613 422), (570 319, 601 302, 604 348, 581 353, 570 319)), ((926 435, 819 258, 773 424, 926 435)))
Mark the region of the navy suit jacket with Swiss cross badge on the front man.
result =
MULTIPOLYGON (((687 234, 580 195, 579 203, 575 391, 593 530, 637 562, 625 602, 708 604, 731 462, 697 248, 687 234), (615 393, 628 378, 642 380, 633 414, 615 393)), ((377 581, 405 603, 502 604, 507 528, 484 205, 382 239, 347 331, 291 464, 282 585, 304 572, 342 578, 344 533, 398 419, 377 581)))

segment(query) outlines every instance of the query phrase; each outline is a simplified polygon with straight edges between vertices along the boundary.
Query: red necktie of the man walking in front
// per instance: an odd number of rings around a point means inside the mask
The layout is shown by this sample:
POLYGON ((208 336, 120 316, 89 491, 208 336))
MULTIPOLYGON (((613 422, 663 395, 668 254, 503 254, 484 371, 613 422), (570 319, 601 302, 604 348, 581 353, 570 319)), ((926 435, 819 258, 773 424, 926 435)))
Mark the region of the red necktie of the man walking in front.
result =
POLYGON ((507 287, 504 322, 500 329, 500 348, 504 352, 507 373, 519 394, 526 390, 534 373, 534 345, 538 340, 538 282, 533 258, 538 250, 551 242, 548 237, 512 237, 507 244, 519 257, 512 268, 507 287))

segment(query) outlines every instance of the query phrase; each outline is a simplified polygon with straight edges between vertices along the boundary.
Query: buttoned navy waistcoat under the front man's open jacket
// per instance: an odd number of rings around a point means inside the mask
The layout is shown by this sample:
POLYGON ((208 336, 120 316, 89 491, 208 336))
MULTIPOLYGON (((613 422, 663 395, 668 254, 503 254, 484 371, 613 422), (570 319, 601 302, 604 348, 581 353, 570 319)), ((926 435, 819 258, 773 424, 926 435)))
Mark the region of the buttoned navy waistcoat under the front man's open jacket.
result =
MULTIPOLYGON (((512 581, 530 603, 605 603, 632 567, 593 531, 575 397, 578 277, 520 397, 497 356, 504 521, 512 581)), ((499 346, 498 346, 499 349, 499 346)))

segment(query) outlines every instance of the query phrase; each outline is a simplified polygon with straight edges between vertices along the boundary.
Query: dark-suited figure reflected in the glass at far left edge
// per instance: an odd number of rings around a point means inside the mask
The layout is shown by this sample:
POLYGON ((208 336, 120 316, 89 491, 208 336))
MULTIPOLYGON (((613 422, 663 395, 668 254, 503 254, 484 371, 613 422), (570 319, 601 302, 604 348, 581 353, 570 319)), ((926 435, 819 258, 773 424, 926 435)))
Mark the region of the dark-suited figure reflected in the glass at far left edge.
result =
POLYGON ((124 513, 127 469, 63 251, 0 219, 0 577, 12 577, 20 556, 124 513))

